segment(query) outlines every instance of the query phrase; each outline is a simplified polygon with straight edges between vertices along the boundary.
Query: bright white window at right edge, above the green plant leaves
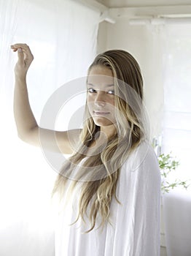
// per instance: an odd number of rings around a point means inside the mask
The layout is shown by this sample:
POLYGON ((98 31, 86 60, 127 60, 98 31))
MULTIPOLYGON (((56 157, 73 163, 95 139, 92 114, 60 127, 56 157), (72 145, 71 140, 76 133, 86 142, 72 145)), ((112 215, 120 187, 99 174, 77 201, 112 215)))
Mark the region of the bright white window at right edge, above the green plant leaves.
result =
POLYGON ((191 24, 166 26, 163 151, 180 165, 176 176, 191 178, 191 24))

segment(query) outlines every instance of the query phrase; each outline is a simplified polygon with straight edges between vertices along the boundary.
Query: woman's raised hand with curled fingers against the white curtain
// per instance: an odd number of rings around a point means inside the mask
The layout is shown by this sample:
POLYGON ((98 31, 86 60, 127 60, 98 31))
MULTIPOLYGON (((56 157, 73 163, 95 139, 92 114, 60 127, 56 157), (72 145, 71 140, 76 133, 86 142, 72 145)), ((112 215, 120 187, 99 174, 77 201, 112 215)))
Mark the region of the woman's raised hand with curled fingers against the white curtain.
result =
POLYGON ((25 79, 28 68, 34 60, 30 48, 26 44, 11 45, 14 52, 17 51, 18 61, 15 65, 15 76, 17 78, 25 79))

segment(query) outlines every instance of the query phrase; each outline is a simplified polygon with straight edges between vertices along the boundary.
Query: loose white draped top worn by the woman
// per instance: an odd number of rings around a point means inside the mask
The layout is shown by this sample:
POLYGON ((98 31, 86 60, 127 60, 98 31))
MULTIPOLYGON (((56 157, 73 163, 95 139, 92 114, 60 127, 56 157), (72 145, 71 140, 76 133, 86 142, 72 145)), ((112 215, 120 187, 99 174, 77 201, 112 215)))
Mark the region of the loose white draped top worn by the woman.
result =
POLYGON ((104 229, 77 217, 77 197, 61 211, 55 228, 55 256, 160 256, 160 169, 155 151, 141 143, 122 165, 117 203, 104 229))

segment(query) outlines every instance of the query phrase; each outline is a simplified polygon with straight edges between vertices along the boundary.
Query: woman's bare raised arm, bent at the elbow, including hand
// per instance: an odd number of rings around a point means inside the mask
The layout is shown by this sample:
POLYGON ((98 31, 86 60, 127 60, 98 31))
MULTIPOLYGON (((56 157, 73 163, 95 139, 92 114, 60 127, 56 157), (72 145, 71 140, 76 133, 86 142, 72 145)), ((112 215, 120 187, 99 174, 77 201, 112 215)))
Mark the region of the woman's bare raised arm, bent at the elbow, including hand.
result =
POLYGON ((26 143, 40 146, 42 136, 43 146, 51 151, 62 151, 63 154, 71 154, 75 144, 79 140, 79 129, 65 132, 52 131, 39 127, 31 110, 28 99, 26 75, 34 56, 26 44, 11 45, 14 52, 17 51, 17 64, 15 65, 15 94, 14 94, 14 115, 19 138, 26 143), (55 145, 55 138, 58 146, 55 145))

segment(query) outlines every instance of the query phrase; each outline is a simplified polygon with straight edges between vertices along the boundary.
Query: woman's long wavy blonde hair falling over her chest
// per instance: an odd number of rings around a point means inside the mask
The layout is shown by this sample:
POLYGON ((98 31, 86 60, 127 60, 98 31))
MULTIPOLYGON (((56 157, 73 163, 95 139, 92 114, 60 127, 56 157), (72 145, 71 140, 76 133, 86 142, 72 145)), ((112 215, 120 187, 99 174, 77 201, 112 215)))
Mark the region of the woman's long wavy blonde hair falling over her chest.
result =
MULTIPOLYGON (((144 124, 141 121, 143 79, 139 64, 125 50, 108 50, 95 57, 88 74, 96 65, 112 70, 114 91, 117 95, 115 97, 117 134, 102 148, 96 148, 91 156, 86 157, 87 147, 95 140, 95 135, 98 135, 100 130, 86 105, 85 124, 79 147, 75 154, 64 162, 53 189, 53 194, 58 192, 62 197, 68 181, 71 182, 71 190, 81 182, 77 220, 82 218, 85 221, 87 215, 90 221, 90 229, 87 232, 95 227, 98 215, 101 217, 101 227, 109 221, 112 199, 117 200, 116 189, 120 168, 144 138, 144 124), (77 166, 78 171, 74 175, 77 166)), ((120 203, 118 200, 117 202, 120 203)))

